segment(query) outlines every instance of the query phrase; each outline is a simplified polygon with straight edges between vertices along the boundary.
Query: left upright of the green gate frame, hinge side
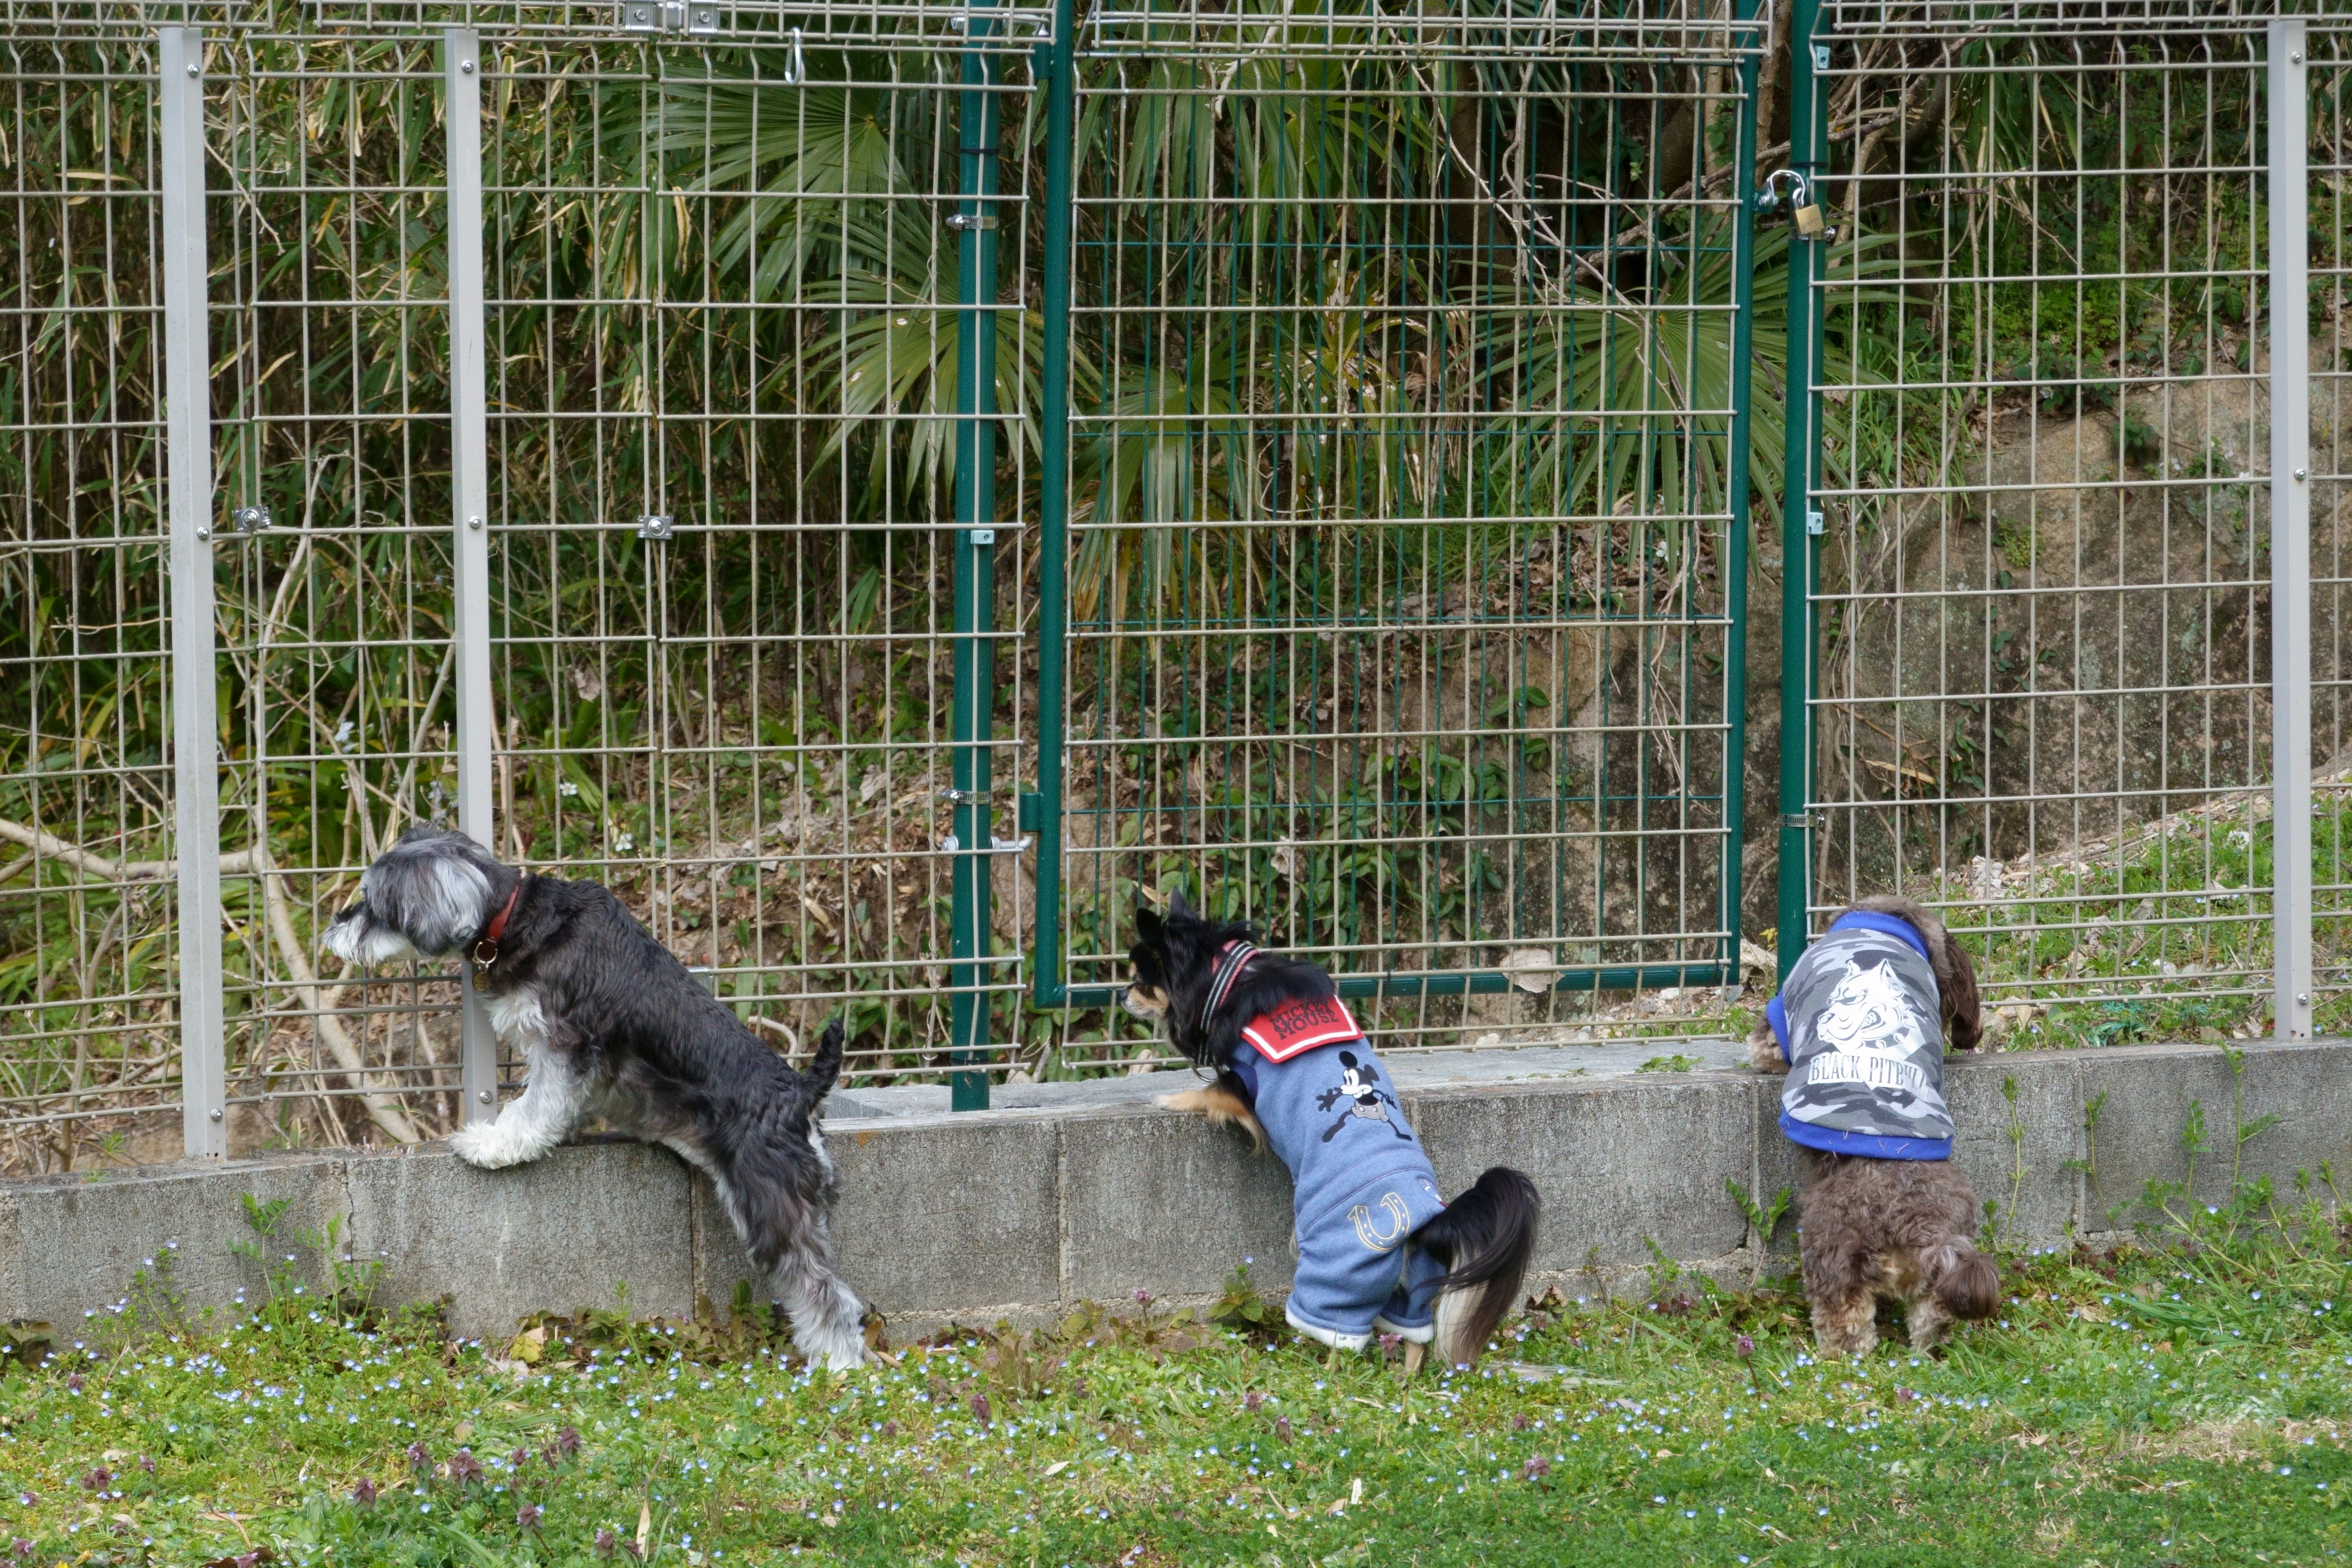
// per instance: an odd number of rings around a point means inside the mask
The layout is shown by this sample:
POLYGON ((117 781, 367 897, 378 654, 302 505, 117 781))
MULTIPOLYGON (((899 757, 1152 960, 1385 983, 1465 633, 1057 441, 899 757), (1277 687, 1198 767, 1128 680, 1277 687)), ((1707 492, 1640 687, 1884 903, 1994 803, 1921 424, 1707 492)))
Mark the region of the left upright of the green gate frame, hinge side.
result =
POLYGON ((1033 999, 1065 1006, 1061 973, 1061 705, 1070 635, 1070 108, 1075 0, 1054 2, 1054 40, 1037 49, 1044 78, 1044 388, 1037 475, 1037 792, 1023 832, 1037 835, 1037 945, 1033 999))

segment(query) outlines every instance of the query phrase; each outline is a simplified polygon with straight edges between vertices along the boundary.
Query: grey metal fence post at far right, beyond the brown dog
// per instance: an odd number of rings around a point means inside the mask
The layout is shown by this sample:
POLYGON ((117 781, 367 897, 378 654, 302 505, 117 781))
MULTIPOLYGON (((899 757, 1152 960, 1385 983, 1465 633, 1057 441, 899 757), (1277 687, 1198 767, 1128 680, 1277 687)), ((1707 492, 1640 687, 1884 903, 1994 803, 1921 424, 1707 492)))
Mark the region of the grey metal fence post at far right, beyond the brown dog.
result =
POLYGON ((2270 24, 2270 900, 2277 1037, 2312 1037, 2312 367, 2305 28, 2270 24))

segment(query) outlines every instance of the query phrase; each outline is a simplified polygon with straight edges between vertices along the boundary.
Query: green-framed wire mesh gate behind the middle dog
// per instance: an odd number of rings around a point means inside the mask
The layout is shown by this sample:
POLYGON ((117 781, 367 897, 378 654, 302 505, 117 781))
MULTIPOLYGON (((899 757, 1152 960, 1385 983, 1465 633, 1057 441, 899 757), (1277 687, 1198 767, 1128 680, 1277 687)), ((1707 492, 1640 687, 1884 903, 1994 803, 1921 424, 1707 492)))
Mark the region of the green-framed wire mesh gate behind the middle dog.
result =
POLYGON ((1037 1004, 1108 1001, 1176 891, 1397 1044, 1512 987, 1541 1025, 1736 985, 1762 26, 1188 2, 1063 38, 1037 1004))

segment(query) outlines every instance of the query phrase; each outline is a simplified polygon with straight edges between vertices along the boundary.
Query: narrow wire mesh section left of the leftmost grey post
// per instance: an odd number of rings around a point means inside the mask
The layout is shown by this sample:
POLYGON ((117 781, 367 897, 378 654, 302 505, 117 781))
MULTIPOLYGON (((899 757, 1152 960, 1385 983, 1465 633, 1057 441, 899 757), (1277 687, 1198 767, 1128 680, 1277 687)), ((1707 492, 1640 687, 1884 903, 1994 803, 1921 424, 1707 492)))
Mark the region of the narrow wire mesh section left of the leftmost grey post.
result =
MULTIPOLYGON (((0 1100, 9 1166, 176 1107, 153 40, 5 42, 0 1100)), ((179 1128, 169 1126, 176 1154, 179 1128)))

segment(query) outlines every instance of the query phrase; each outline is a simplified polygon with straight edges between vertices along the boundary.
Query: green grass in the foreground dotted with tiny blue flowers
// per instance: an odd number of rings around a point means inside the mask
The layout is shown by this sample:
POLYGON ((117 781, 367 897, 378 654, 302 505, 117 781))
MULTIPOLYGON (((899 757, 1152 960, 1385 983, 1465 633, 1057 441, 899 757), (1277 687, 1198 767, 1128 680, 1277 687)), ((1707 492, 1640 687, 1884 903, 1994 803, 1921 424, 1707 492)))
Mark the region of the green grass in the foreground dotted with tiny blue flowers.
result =
MULTIPOLYGON (((1089 1312, 851 1378, 757 1314, 588 1312, 534 1319, 517 1375, 280 1274, 235 1324, 0 1359, 0 1535, 92 1566, 630 1561, 640 1533, 713 1566, 2319 1563, 2352 1547, 2352 1248, 2317 1204, 2274 1220, 2256 1187, 2169 1246, 2011 1258, 2004 1316, 1940 1356, 1818 1363, 1792 1293, 1668 1265, 1411 1382, 1263 1331, 1247 1286, 1240 1331, 1089 1312)), ((153 1286, 108 1326, 169 1316, 153 1286)))

